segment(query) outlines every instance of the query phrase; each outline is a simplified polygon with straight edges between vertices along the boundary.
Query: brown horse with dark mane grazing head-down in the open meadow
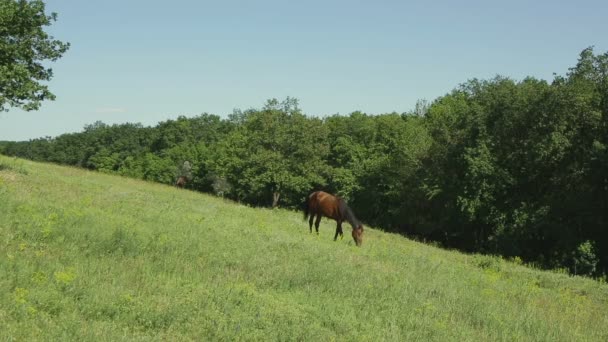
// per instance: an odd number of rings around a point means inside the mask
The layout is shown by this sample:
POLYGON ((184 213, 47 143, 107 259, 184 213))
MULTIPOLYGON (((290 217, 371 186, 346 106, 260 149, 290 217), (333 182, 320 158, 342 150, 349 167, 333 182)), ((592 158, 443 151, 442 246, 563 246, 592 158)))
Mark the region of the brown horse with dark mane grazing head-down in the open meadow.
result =
POLYGON ((361 246, 363 243, 363 225, 357 218, 350 207, 346 204, 346 201, 340 197, 336 197, 332 194, 328 194, 323 191, 315 191, 308 196, 308 200, 304 203, 304 220, 308 220, 310 232, 312 233, 312 221, 317 216, 315 221, 315 230, 317 235, 319 234, 319 223, 323 216, 336 220, 336 235, 334 235, 334 241, 338 238, 344 238, 342 232, 342 222, 346 221, 353 227, 352 236, 357 246, 361 246))

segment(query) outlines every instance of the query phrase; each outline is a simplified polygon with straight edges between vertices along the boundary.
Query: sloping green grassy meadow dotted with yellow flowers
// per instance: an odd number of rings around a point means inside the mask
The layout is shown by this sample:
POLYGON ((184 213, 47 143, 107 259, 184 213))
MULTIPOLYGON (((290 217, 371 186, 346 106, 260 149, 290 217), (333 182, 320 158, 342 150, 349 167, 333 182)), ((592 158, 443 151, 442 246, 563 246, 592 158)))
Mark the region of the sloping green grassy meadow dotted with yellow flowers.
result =
POLYGON ((0 340, 606 341, 608 286, 0 156, 0 340))

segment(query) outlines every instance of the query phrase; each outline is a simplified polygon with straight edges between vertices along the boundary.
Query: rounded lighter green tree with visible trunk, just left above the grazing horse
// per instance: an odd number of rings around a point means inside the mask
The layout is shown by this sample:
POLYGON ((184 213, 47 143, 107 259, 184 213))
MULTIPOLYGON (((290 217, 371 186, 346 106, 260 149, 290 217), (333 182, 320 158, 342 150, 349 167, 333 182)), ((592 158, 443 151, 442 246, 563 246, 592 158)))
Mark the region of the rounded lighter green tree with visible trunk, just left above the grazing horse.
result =
POLYGON ((325 182, 327 132, 321 120, 300 112, 295 99, 269 100, 233 120, 237 128, 220 142, 213 168, 232 185, 234 197, 293 206, 325 182))

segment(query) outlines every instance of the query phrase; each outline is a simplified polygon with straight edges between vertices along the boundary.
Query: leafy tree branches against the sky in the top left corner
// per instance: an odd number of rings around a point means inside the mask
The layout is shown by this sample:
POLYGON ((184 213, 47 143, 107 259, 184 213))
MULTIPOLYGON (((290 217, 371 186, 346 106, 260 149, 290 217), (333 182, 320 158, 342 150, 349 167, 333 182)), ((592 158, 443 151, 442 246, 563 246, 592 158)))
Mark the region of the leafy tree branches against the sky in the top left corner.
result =
POLYGON ((36 110, 42 101, 55 99, 41 82, 53 77, 43 62, 57 60, 69 48, 44 31, 56 20, 40 0, 0 1, 0 111, 36 110))

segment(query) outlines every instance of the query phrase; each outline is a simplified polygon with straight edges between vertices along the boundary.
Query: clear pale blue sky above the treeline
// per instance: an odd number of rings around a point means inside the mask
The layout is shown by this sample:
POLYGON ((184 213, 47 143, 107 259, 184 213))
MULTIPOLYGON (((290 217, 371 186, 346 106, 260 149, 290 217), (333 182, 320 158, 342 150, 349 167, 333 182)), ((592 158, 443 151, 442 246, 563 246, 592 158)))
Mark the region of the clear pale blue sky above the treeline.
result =
POLYGON ((55 101, 0 113, 0 140, 222 117, 269 98, 315 116, 412 110, 471 78, 551 80, 608 51, 608 1, 48 0, 70 50, 55 101))

